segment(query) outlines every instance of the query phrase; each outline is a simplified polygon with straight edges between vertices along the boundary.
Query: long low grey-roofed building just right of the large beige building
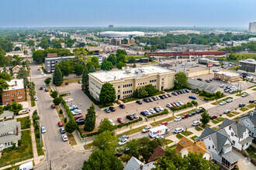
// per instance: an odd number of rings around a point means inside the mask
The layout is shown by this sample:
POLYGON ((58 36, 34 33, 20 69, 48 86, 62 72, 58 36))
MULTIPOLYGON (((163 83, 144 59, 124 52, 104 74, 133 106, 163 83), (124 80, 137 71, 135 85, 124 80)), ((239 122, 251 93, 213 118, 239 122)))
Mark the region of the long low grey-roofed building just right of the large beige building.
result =
POLYGON ((223 88, 195 79, 188 80, 188 87, 191 89, 205 90, 208 93, 216 93, 217 91, 220 91, 221 93, 224 92, 223 88))

